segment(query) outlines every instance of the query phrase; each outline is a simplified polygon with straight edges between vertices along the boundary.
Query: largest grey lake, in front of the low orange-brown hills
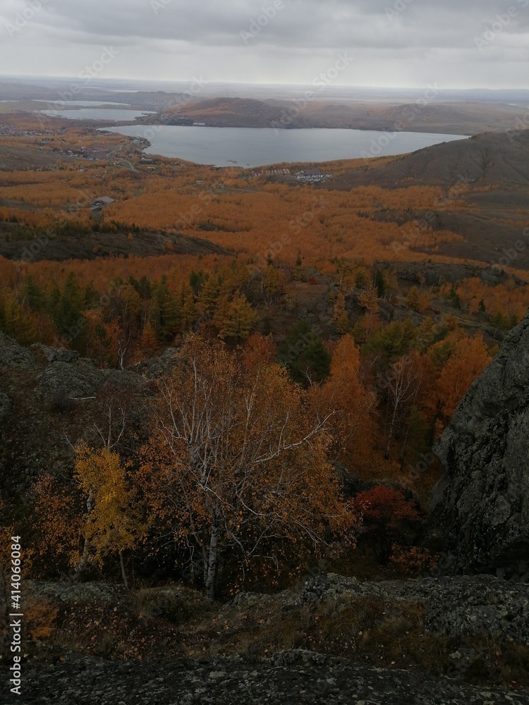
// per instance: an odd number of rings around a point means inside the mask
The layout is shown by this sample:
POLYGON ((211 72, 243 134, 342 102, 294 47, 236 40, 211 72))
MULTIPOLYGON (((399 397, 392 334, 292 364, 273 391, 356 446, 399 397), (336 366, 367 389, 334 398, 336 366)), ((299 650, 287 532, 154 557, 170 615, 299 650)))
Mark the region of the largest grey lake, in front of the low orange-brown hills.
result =
MULTIPOLYGON (((106 111, 105 111, 106 112, 106 111)), ((376 132, 374 130, 274 130, 273 128, 206 128, 180 125, 124 125, 104 128, 129 137, 145 137, 146 154, 178 157, 195 164, 256 167, 282 161, 332 161, 367 155, 389 157, 415 152, 463 135, 376 132)))

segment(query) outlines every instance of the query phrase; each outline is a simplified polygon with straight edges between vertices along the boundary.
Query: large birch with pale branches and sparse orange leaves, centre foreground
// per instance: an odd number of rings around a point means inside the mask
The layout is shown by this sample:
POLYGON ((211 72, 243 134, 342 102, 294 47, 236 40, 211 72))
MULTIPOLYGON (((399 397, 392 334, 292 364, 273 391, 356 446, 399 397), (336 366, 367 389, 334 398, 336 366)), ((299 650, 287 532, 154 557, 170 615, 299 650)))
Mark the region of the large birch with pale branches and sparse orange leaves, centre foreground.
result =
POLYGON ((327 462, 326 421, 270 352, 253 336, 241 360, 190 336, 160 384, 140 479, 157 529, 204 557, 210 599, 224 547, 243 566, 261 546, 322 544, 329 527, 346 532, 353 519, 327 462))

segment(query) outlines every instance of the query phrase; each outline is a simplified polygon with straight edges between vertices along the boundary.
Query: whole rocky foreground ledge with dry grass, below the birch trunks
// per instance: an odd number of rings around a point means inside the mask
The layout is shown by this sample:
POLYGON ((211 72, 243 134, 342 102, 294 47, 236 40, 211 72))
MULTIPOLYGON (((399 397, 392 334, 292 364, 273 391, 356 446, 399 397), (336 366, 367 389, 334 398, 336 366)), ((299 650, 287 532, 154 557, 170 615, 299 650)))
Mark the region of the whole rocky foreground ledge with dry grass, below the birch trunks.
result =
POLYGON ((331 573, 215 605, 181 584, 26 582, 25 602, 39 638, 0 705, 529 705, 528 586, 492 576, 331 573))

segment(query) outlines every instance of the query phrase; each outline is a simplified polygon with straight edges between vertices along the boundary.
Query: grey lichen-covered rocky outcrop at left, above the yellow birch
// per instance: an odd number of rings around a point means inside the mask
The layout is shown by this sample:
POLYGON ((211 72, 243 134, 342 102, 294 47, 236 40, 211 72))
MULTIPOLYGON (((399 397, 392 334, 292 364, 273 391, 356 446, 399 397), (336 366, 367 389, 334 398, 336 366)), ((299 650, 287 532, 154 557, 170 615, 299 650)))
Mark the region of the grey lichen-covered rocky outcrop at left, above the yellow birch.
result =
POLYGON ((98 369, 75 350, 28 349, 0 333, 1 491, 25 496, 42 472, 71 473, 71 441, 97 442, 96 424, 104 426, 112 398, 123 404, 139 446, 156 380, 169 372, 175 352, 128 369, 98 369))

